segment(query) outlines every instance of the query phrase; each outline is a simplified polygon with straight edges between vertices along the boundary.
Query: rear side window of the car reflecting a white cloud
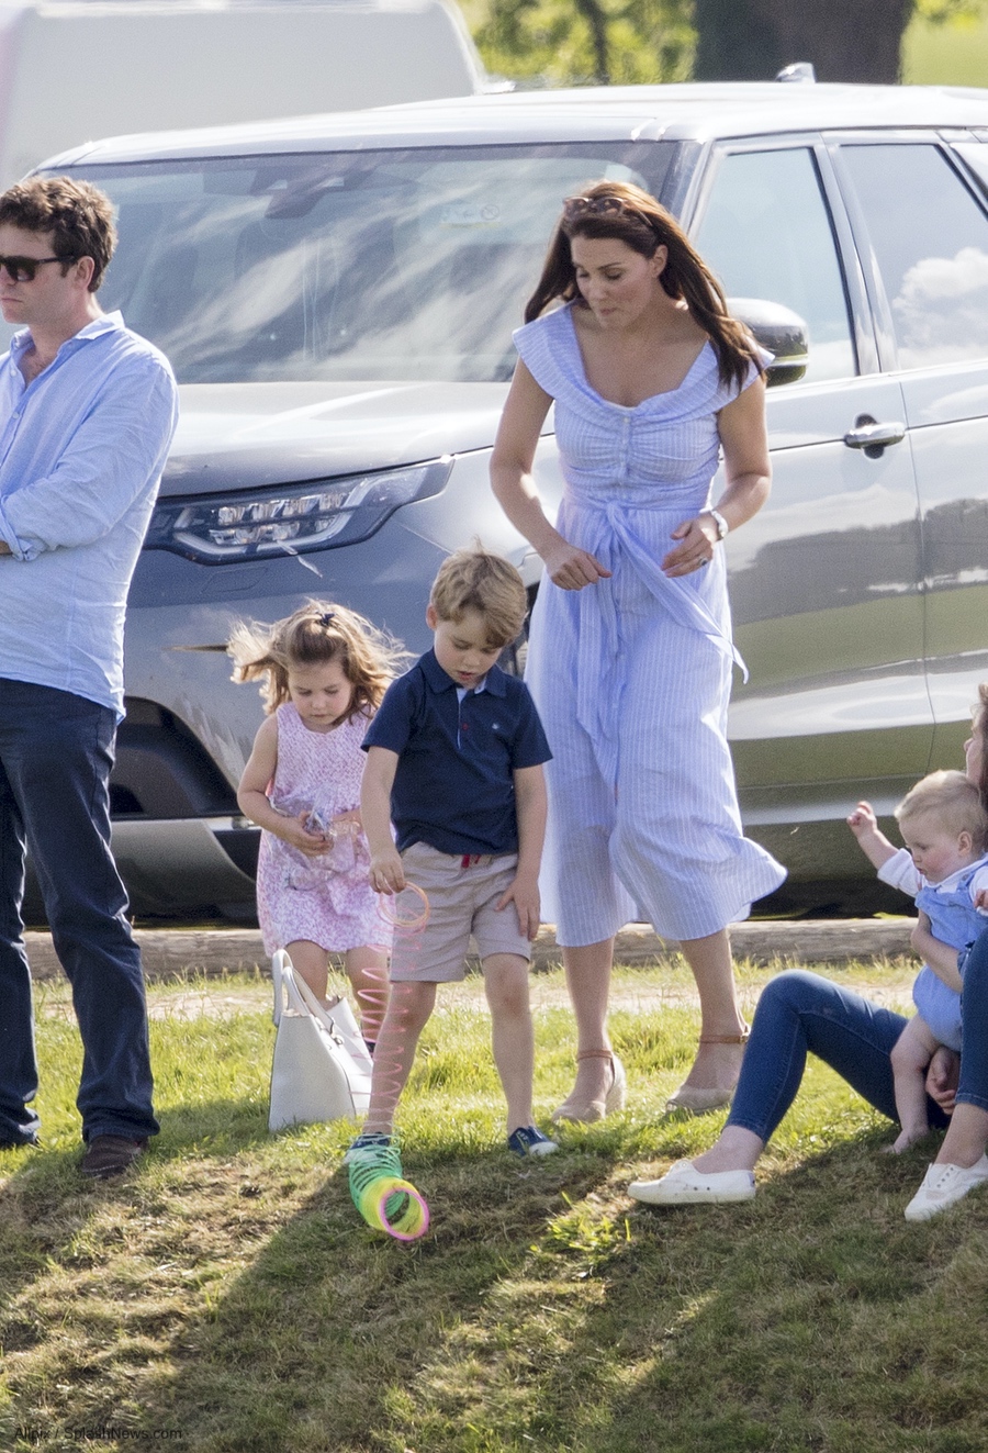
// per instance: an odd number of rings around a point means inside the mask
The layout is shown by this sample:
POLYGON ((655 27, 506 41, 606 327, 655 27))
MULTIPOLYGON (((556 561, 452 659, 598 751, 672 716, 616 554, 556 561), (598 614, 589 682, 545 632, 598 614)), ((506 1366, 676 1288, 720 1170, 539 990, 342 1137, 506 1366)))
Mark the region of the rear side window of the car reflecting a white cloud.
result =
POLYGON ((901 368, 988 356, 988 216, 933 144, 844 145, 901 368))

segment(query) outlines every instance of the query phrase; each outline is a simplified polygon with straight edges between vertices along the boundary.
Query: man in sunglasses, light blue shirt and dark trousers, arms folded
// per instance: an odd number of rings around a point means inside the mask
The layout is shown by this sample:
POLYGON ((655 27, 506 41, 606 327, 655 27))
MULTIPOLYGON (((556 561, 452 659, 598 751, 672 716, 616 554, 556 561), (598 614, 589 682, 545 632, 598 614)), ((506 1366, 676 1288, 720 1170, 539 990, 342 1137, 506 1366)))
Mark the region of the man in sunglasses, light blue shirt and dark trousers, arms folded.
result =
POLYGON ((25 847, 83 1039, 83 1174, 157 1133, 144 976, 110 854, 126 591, 177 420, 167 359, 96 299, 112 206, 68 177, 0 196, 0 1148, 33 1144, 25 847))

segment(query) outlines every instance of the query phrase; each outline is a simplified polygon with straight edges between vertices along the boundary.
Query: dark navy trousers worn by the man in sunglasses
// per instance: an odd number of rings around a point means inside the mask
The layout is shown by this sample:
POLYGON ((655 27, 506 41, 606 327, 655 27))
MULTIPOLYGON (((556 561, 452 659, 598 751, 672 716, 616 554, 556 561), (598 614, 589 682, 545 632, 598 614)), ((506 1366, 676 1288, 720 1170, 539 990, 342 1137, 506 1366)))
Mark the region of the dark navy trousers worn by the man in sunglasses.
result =
POLYGON ((157 1133, 141 958, 110 854, 113 712, 0 680, 0 1141, 33 1141, 38 1091, 20 915, 25 844, 83 1039, 83 1138, 157 1133))

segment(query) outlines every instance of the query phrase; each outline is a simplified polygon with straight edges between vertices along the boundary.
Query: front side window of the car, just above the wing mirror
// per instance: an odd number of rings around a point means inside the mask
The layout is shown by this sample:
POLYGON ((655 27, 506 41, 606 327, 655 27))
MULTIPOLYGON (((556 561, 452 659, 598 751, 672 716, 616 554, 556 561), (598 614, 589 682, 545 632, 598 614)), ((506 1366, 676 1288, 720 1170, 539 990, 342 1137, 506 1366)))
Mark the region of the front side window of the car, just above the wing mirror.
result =
POLYGON ((806 323, 808 381, 856 372, 837 244, 808 147, 725 155, 696 244, 728 298, 780 302, 806 323))

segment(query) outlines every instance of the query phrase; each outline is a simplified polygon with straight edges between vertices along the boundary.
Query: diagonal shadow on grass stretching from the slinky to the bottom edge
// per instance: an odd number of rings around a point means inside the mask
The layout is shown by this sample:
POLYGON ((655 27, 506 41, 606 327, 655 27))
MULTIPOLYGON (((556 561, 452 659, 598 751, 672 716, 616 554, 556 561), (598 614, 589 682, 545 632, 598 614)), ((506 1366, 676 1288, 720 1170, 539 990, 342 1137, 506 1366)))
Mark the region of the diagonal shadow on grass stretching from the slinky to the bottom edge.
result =
POLYGON ((189 1449, 298 1453, 405 1449, 402 1409, 450 1329, 465 1325, 570 1196, 606 1161, 405 1155, 432 1229, 402 1245, 363 1225, 337 1168, 260 1247, 139 1389, 139 1428, 189 1449))

